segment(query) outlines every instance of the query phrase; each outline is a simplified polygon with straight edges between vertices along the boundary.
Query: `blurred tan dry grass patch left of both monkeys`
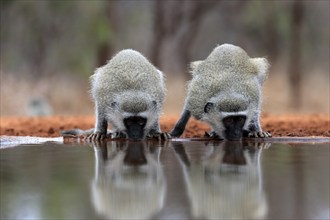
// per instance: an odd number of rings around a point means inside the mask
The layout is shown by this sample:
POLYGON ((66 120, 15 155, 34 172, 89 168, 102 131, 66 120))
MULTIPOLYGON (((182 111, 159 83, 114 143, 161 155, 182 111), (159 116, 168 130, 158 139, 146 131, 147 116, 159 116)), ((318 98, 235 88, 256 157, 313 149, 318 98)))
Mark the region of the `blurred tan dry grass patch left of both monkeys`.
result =
POLYGON ((88 79, 77 76, 50 76, 33 81, 12 75, 1 76, 1 116, 28 114, 28 104, 34 98, 47 100, 54 115, 93 114, 88 79))

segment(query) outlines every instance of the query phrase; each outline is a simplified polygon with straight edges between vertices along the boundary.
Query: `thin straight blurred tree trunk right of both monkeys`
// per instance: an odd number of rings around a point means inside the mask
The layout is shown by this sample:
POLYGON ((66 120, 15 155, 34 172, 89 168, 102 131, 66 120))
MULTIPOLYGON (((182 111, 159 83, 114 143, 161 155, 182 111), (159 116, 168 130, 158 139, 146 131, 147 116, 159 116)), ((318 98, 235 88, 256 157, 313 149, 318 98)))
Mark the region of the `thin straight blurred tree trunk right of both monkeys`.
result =
POLYGON ((298 109, 301 105, 301 81, 302 81, 302 27, 304 16, 304 2, 295 0, 291 8, 291 36, 289 59, 289 82, 291 85, 291 104, 298 109))

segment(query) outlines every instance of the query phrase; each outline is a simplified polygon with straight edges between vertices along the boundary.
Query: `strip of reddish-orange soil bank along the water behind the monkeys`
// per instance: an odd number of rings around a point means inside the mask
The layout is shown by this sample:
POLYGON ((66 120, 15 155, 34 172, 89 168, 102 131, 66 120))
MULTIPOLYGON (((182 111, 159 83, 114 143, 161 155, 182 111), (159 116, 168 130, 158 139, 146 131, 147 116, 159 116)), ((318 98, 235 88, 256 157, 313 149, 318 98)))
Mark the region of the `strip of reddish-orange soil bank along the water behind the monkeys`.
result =
MULTIPOLYGON (((162 131, 170 131, 179 116, 163 116, 162 131)), ((0 135, 57 137, 60 130, 94 126, 94 116, 1 117, 0 135)), ((270 115, 261 119, 262 128, 273 136, 330 137, 330 119, 325 114, 270 115)), ((190 119, 183 137, 203 137, 209 131, 207 124, 190 119)))

